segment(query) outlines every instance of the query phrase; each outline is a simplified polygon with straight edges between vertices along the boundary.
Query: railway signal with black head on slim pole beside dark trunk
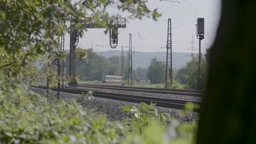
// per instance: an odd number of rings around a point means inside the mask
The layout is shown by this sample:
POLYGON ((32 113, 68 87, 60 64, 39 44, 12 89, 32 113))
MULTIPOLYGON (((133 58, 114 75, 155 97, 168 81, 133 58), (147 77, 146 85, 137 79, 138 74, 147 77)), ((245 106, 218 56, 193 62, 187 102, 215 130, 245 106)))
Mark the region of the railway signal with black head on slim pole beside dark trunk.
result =
POLYGON ((199 39, 199 65, 198 65, 198 69, 199 69, 199 76, 198 76, 198 80, 196 83, 196 89, 202 89, 202 83, 201 83, 201 40, 205 38, 205 19, 203 18, 197 18, 197 25, 196 25, 196 35, 197 35, 197 39, 199 39))

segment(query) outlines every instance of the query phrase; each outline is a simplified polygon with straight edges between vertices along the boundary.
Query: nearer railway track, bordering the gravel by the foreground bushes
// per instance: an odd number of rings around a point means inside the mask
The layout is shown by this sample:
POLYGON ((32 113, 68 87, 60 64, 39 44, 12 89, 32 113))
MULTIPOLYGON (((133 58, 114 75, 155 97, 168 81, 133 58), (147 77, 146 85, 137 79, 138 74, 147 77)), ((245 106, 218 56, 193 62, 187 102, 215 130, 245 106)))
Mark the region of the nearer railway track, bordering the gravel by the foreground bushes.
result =
MULTIPOLYGON (((46 89, 45 86, 31 86, 36 88, 43 88, 46 89)), ((53 91, 57 91, 57 88, 51 88, 53 91)), ((83 88, 60 88, 61 92, 66 93, 74 93, 74 94, 81 94, 81 93, 88 93, 89 91, 83 88)), ((153 103, 157 106, 164 106, 170 107, 174 109, 182 109, 185 103, 191 102, 200 104, 200 101, 190 101, 190 100, 177 100, 177 99, 167 99, 167 98, 156 98, 156 97, 146 97, 142 95, 130 95, 130 94, 119 94, 119 93, 109 93, 103 91, 94 91, 94 97, 100 98, 108 98, 108 99, 115 99, 115 100, 123 100, 123 101, 130 101, 133 103, 153 103)))

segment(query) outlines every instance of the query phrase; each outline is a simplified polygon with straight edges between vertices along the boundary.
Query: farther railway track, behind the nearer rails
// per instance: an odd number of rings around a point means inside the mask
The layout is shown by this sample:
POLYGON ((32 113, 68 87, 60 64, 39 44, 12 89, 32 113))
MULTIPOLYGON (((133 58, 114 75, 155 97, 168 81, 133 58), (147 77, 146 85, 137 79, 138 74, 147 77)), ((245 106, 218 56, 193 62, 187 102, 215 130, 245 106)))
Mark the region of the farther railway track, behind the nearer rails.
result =
POLYGON ((115 89, 115 90, 123 90, 123 91, 137 91, 137 92, 149 92, 149 93, 179 94, 179 95, 190 95, 194 97, 202 97, 205 92, 205 91, 197 91, 197 90, 189 90, 189 89, 124 87, 124 86, 92 85, 92 84, 79 85, 79 87, 106 88, 106 89, 115 89))

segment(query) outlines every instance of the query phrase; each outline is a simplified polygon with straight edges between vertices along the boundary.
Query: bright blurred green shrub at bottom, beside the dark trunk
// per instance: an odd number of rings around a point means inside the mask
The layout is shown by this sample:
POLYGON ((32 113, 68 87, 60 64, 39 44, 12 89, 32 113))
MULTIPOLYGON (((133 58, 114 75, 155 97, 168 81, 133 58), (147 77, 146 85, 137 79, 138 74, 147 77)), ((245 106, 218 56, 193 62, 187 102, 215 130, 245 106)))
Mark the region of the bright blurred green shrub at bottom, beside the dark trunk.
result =
MULTIPOLYGON (((187 105, 193 110, 194 105, 187 105)), ((133 114, 131 119, 123 121, 121 134, 126 135, 123 143, 195 143, 196 121, 180 123, 166 113, 159 113, 152 104, 123 109, 133 114)))

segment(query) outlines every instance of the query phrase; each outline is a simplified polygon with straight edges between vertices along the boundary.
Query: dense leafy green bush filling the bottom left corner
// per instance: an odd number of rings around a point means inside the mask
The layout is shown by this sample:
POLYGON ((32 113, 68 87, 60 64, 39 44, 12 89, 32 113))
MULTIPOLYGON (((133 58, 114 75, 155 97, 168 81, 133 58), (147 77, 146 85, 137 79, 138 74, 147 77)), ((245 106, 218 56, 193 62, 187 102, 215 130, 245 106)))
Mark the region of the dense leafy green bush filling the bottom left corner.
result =
POLYGON ((115 143, 118 135, 104 117, 73 101, 46 100, 17 87, 1 94, 0 141, 6 143, 115 143))

